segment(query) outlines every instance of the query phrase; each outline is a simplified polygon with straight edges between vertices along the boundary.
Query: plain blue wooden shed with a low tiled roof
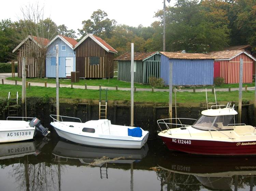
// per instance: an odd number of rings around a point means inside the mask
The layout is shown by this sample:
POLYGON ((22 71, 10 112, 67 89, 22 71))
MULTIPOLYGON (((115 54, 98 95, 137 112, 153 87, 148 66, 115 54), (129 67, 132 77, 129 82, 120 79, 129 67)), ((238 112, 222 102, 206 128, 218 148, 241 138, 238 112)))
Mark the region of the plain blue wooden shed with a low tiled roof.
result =
POLYGON ((172 62, 174 86, 213 85, 214 59, 207 54, 160 52, 160 77, 169 85, 169 63, 172 62))

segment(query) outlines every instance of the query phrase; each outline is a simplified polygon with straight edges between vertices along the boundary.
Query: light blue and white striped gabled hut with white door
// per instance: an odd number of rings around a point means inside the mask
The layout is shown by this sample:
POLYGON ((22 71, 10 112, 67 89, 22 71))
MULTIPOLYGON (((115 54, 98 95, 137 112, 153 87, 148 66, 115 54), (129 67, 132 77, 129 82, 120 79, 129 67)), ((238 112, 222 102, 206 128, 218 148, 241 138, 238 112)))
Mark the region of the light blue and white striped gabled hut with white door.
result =
POLYGON ((59 77, 71 77, 75 71, 75 51, 77 44, 75 39, 63 35, 57 35, 49 42, 46 52, 45 76, 56 77, 56 46, 59 46, 59 77))

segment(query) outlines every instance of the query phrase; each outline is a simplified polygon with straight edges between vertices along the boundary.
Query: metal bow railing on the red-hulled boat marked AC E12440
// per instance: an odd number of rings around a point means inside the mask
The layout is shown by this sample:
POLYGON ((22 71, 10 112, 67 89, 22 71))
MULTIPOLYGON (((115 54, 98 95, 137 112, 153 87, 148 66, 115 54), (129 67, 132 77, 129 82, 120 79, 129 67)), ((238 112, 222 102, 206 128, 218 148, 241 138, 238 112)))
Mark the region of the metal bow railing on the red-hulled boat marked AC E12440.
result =
MULTIPOLYGON (((170 135, 172 135, 172 134, 171 134, 171 131, 170 131, 171 128, 169 127, 169 125, 170 125, 170 126, 181 126, 181 128, 182 128, 182 127, 196 127, 196 128, 199 128, 199 129, 200 129, 200 128, 203 128, 203 129, 209 131, 209 133, 210 133, 210 135, 211 135, 212 138, 213 138, 213 136, 212 136, 211 131, 217 131, 217 132, 219 132, 219 133, 221 133, 221 134, 227 136, 228 138, 233 139, 233 138, 231 138, 230 136, 228 136, 227 134, 225 134, 225 133, 223 133, 223 132, 221 132, 221 131, 219 131, 219 130, 217 130, 217 129, 208 128, 208 127, 192 126, 192 125, 182 124, 180 119, 196 120, 196 119, 190 119, 190 118, 159 119, 159 120, 157 120, 157 124, 158 124, 158 127, 160 128, 161 131, 163 131, 163 130, 162 130, 162 128, 160 127, 160 124, 165 124, 165 126, 167 127, 167 133, 170 134, 170 135), (168 123, 168 122, 166 122, 166 120, 172 121, 172 120, 176 120, 176 119, 180 121, 180 124, 179 124, 179 123, 168 123), (162 121, 162 122, 160 122, 160 121, 162 121)), ((191 135, 189 129, 188 129, 188 128, 186 128, 186 129, 187 129, 187 131, 188 131, 190 137, 192 137, 192 135, 191 135)))

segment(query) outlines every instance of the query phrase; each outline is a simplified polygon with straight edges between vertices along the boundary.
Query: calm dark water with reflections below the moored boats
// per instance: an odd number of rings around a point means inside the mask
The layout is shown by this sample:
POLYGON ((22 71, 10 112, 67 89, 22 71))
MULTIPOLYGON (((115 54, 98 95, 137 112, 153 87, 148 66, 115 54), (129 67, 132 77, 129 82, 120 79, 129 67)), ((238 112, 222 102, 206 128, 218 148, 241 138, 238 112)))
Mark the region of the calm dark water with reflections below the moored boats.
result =
POLYGON ((51 140, 0 144, 0 190, 256 190, 255 158, 170 152, 160 139, 141 150, 51 140))

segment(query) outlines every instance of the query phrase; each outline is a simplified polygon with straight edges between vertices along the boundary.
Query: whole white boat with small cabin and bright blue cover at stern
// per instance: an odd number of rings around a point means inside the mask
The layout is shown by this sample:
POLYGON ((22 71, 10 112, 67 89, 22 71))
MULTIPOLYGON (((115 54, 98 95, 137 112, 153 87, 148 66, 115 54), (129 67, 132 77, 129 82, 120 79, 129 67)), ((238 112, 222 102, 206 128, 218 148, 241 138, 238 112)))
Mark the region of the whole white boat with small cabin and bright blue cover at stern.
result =
POLYGON ((111 121, 108 119, 90 120, 82 123, 79 118, 57 115, 50 116, 54 120, 51 122, 51 125, 60 137, 83 145, 141 149, 147 142, 149 133, 141 128, 111 124, 111 121), (57 120, 57 117, 61 121, 57 120), (63 121, 63 118, 69 118, 69 120, 75 119, 79 122, 63 121), (138 131, 141 134, 130 136, 128 131, 138 131))

